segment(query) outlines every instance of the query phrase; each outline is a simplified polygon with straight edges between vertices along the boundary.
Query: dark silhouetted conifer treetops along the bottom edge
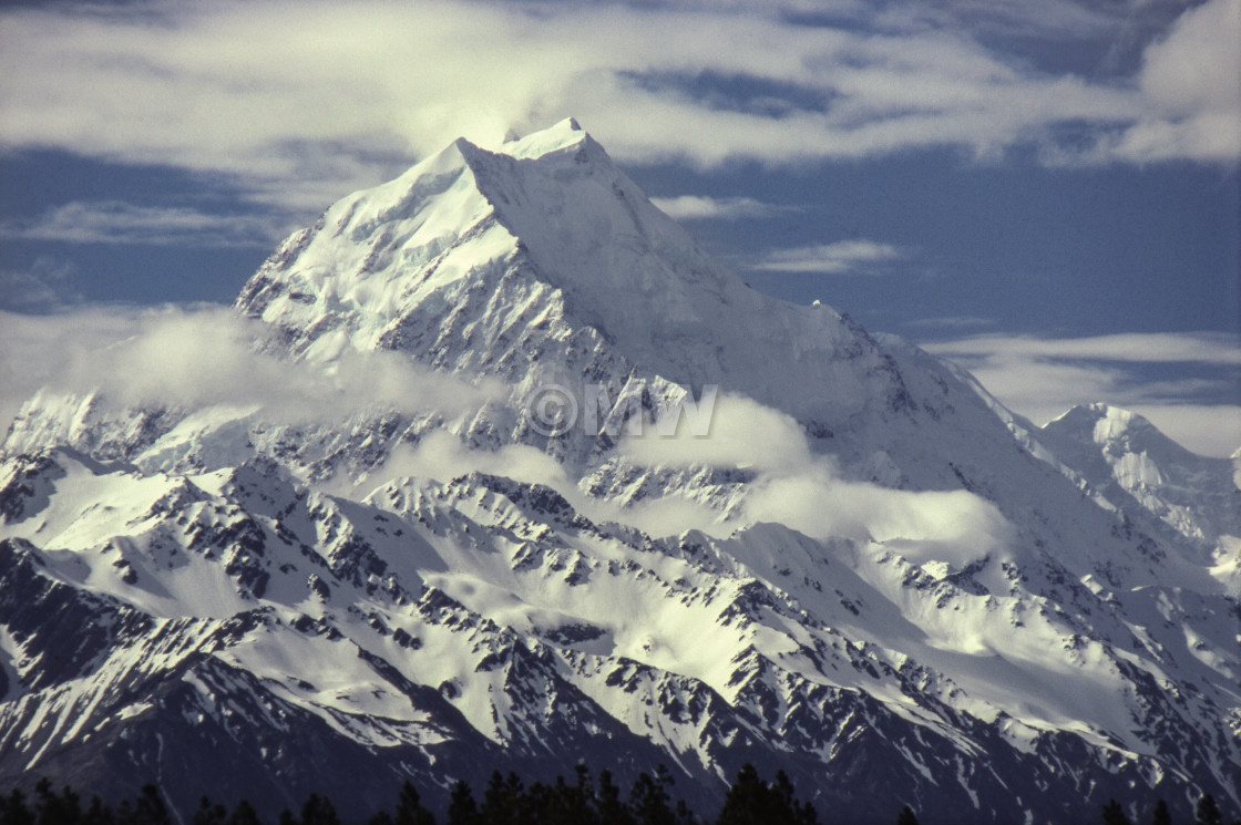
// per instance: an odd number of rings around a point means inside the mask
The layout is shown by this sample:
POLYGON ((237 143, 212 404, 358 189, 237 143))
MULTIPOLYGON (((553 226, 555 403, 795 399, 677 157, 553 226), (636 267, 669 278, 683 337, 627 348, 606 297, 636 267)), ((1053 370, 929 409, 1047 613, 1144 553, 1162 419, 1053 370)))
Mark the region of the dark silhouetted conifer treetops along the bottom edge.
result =
MULTIPOLYGON (((671 775, 663 765, 654 774, 640 774, 627 798, 612 780, 611 772, 602 770, 594 778, 585 765, 576 768, 571 783, 557 777, 555 783, 536 782, 529 787, 514 773, 505 777, 495 772, 482 798, 475 798, 465 782, 455 783, 447 809, 438 813, 423 804, 411 783, 405 783, 395 806, 369 818, 336 810, 329 798, 310 794, 300 811, 285 809, 272 824, 266 823, 246 799, 228 809, 204 796, 192 819, 187 820, 169 809, 154 783, 144 785, 135 799, 109 805, 98 796, 86 801, 68 787, 56 790, 43 779, 30 796, 20 789, 0 796, 0 825, 853 825, 881 818, 880 811, 828 811, 820 819, 810 803, 797 798, 783 772, 778 772, 774 780, 764 782, 750 764, 737 773, 720 811, 707 819, 691 811, 683 800, 674 799, 671 785, 671 775)), ((1095 815, 1083 810, 1078 823, 1241 825, 1241 816, 1225 819, 1210 794, 1199 798, 1191 814, 1178 811, 1180 819, 1162 799, 1142 806, 1145 813, 1137 820, 1129 816, 1131 809, 1111 799, 1095 815)), ((943 819, 942 811, 938 814, 936 819, 943 819)), ((1011 821, 1021 819, 1021 811, 1014 810, 1011 821)), ((918 816, 910 805, 902 805, 889 821, 918 825, 918 816)))

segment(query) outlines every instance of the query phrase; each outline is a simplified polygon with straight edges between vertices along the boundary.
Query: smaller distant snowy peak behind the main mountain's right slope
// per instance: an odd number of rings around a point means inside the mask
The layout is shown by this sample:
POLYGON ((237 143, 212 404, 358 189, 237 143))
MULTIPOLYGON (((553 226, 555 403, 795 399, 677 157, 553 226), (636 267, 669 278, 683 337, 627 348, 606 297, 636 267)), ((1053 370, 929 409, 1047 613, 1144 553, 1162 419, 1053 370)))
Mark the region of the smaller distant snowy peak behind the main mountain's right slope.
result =
POLYGON ((1134 412, 1077 406, 1039 439, 1122 510, 1137 505, 1207 547, 1241 536, 1237 462, 1190 453, 1134 412))

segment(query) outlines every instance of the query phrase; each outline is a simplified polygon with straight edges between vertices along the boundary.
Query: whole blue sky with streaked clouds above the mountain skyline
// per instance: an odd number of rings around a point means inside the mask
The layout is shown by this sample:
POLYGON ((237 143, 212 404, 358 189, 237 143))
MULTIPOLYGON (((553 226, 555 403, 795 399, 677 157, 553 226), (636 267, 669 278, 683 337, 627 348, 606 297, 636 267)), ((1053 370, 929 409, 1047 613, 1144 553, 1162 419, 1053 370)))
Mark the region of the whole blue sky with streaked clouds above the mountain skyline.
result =
MULTIPOLYGON (((1037 423, 1109 401, 1225 455, 1239 32, 1241 0, 6 4, 0 336, 228 303, 347 192, 573 115, 756 288, 1037 423)), ((42 375, 11 361, 0 416, 42 375)))

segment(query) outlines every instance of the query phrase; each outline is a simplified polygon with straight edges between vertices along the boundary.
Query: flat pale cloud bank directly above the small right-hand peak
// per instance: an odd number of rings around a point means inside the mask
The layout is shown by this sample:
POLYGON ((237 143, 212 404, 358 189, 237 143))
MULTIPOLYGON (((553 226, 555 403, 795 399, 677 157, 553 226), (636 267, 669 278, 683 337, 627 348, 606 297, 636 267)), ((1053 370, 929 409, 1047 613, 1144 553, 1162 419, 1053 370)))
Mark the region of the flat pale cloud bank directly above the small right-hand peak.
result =
POLYGON ((1172 439, 1203 455, 1227 457, 1241 447, 1241 383, 1236 376, 1241 342, 1235 336, 980 336, 926 344, 923 349, 959 362, 1005 406, 1040 426, 1076 404, 1106 402, 1147 417, 1172 439), (1193 365, 1219 377, 1144 378, 1140 368, 1153 363, 1193 365))

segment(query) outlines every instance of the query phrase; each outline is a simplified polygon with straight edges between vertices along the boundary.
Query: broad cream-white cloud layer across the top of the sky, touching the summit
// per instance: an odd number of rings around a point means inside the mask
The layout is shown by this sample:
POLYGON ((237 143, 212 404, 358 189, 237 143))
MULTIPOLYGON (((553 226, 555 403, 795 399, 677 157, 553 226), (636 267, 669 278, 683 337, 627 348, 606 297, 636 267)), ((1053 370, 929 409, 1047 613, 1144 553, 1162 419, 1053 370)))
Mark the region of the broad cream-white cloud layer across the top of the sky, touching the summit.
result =
POLYGON ((285 205, 567 114, 629 163, 1023 145, 1055 163, 1235 163, 1239 4, 1185 11, 1139 45, 1138 69, 1100 81, 1004 51, 1014 31, 1109 36, 1123 16, 1069 0, 1015 17, 969 2, 12 7, 0 146, 227 171, 285 205))

